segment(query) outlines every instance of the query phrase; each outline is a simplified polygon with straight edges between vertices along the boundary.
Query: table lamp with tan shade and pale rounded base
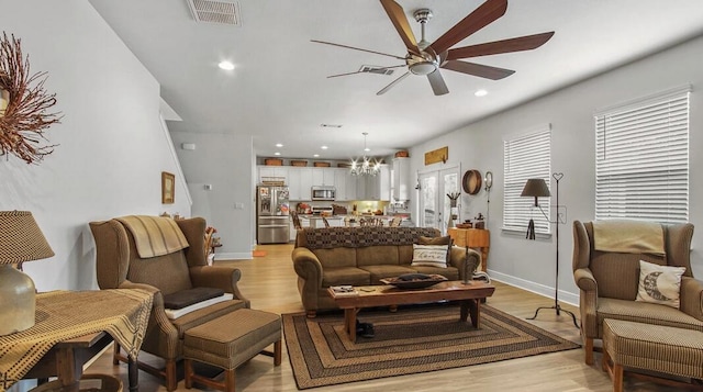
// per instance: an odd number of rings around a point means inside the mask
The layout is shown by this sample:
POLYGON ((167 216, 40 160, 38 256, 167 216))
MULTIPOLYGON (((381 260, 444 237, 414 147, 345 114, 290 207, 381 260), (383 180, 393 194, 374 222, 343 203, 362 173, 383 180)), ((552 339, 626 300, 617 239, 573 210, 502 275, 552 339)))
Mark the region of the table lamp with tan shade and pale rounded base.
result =
POLYGON ((31 212, 0 211, 0 336, 34 325, 34 282, 12 265, 52 256, 31 212))

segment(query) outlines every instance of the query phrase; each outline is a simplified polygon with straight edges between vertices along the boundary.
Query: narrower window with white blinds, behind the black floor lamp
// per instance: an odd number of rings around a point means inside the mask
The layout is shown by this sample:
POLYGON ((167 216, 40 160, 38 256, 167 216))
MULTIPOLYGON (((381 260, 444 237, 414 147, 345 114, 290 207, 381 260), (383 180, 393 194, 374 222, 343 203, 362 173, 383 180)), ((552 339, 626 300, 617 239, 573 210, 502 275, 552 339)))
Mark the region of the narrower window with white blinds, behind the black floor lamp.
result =
MULTIPOLYGON (((531 178, 542 178, 547 184, 550 183, 551 126, 547 124, 503 141, 503 229, 525 232, 533 219, 536 234, 549 234, 549 220, 534 209, 534 198, 522 198, 520 194, 531 178)), ((547 216, 549 203, 550 198, 539 200, 547 216)))

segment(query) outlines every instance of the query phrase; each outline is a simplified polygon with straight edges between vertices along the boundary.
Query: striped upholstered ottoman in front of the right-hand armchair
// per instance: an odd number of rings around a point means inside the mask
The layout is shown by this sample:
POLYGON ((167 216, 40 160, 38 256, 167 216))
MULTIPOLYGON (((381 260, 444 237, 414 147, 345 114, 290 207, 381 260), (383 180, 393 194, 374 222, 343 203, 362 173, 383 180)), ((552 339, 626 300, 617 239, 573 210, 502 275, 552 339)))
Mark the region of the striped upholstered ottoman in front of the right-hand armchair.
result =
MULTIPOLYGON (((603 370, 613 379, 613 391, 623 391, 624 367, 691 379, 703 379, 703 332, 622 320, 603 321, 603 370)), ((699 385, 656 377, 649 381, 699 385)), ((700 385, 703 390, 703 385, 700 385)))

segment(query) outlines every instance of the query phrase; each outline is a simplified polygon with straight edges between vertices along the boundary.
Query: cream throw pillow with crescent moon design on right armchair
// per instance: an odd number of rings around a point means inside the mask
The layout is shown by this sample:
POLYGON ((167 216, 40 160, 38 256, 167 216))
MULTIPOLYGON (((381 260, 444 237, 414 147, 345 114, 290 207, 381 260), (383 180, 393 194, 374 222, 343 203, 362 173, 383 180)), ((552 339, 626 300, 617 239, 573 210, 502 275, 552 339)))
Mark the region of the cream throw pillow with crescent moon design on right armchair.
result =
POLYGON ((681 276, 685 267, 659 266, 639 260, 639 302, 658 303, 679 309, 681 276))

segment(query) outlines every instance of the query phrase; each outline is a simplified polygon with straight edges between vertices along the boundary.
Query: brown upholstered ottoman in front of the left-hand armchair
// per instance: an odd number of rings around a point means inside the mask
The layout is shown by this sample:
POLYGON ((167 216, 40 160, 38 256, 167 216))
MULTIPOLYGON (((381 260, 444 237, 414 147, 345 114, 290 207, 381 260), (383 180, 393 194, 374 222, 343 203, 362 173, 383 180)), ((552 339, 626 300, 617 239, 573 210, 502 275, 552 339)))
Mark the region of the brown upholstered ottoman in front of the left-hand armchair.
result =
POLYGON ((272 356, 274 366, 281 365, 281 317, 278 314, 239 309, 188 329, 183 336, 186 388, 190 389, 197 381, 234 392, 235 369, 257 354, 272 356), (274 352, 264 351, 271 344, 274 352), (223 369, 224 382, 196 374, 193 360, 223 369))

